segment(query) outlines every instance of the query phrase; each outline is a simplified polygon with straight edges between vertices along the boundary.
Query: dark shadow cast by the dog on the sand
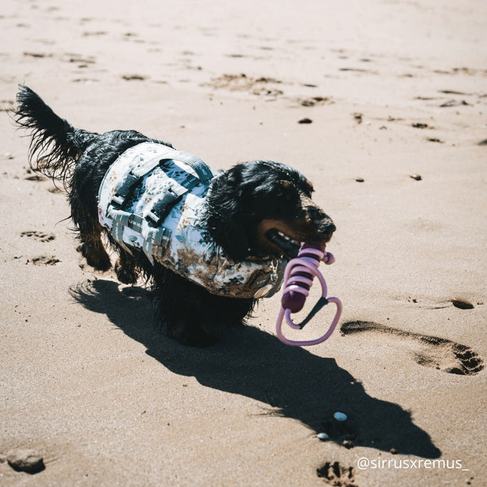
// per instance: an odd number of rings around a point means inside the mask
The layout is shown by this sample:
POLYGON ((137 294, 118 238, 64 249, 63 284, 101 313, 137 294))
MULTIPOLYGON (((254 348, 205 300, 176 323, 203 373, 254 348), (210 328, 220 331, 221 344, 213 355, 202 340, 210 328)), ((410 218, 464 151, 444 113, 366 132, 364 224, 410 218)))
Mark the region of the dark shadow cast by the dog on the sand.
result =
POLYGON ((205 387, 265 403, 263 414, 299 420, 346 448, 362 445, 426 458, 441 455, 408 411, 369 396, 333 358, 284 345, 252 326, 234 330, 211 348, 182 346, 154 326, 150 294, 142 287, 87 281, 72 287, 71 295, 87 309, 107 315, 170 371, 194 376, 205 387), (335 411, 348 419, 335 420, 335 411))

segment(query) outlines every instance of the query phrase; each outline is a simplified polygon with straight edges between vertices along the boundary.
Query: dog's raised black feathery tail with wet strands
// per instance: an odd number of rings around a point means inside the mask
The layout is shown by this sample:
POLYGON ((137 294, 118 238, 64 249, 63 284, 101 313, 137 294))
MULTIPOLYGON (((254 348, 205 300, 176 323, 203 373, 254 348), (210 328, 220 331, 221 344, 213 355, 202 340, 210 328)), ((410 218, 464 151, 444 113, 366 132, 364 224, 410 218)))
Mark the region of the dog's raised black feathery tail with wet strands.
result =
POLYGON ((30 130, 30 168, 69 186, 80 155, 99 135, 76 129, 24 85, 19 86, 13 118, 19 127, 30 130))

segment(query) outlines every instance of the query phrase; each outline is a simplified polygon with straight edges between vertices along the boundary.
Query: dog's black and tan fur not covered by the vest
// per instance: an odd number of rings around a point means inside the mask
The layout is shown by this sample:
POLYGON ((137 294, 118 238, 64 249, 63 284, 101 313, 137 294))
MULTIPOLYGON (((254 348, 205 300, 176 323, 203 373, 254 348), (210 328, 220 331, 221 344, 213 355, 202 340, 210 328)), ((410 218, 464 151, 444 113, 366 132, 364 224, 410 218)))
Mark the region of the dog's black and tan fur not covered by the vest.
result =
MULTIPOLYGON (((211 294, 159 263, 152 265, 140 249, 127 252, 98 222, 101 181, 117 157, 149 139, 133 130, 96 134, 78 130, 57 116, 37 94, 21 86, 14 118, 30 130, 30 167, 62 181, 71 218, 81 242, 78 250, 98 271, 112 264, 104 240, 118 254, 116 275, 134 284, 142 274, 159 301, 159 319, 166 333, 183 344, 207 346, 229 326, 242 324, 254 299, 211 294)), ((236 262, 247 258, 296 256, 296 242, 324 243, 335 226, 311 200, 312 185, 300 172, 271 161, 240 163, 214 179, 206 195, 205 220, 215 245, 236 262), (280 231, 280 237, 276 237, 280 231), (283 233, 288 237, 283 239, 283 233), (290 241, 294 240, 294 242, 290 241)))

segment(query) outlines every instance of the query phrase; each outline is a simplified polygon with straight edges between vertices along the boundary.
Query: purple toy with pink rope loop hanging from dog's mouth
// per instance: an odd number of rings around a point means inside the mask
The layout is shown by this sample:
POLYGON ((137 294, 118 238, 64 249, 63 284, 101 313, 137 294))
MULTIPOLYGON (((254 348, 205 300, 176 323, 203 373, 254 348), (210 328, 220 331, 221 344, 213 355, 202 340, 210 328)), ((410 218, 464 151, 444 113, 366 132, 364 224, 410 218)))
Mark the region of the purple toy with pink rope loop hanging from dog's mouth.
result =
POLYGON ((287 263, 284 272, 284 292, 283 298, 281 300, 281 310, 279 311, 276 323, 276 332, 278 339, 284 344, 294 345, 294 346, 310 346, 317 345, 324 342, 335 330, 340 315, 342 315, 342 301, 335 297, 326 297, 326 281, 318 270, 320 261, 323 260, 326 264, 333 264, 335 262, 335 257, 333 257, 330 252, 325 252, 324 247, 318 247, 303 243, 299 254, 296 258, 292 259, 287 263), (292 321, 291 313, 298 312, 303 309, 306 297, 310 292, 310 287, 314 277, 319 279, 321 283, 321 298, 317 301, 315 306, 309 312, 308 316, 301 321, 300 324, 295 324, 292 321), (283 335, 282 326, 283 319, 285 318, 287 324, 294 328, 295 330, 302 330, 306 324, 314 317, 321 308, 326 306, 328 303, 335 303, 337 306, 337 312, 333 318, 330 328, 321 337, 308 340, 291 340, 283 335))

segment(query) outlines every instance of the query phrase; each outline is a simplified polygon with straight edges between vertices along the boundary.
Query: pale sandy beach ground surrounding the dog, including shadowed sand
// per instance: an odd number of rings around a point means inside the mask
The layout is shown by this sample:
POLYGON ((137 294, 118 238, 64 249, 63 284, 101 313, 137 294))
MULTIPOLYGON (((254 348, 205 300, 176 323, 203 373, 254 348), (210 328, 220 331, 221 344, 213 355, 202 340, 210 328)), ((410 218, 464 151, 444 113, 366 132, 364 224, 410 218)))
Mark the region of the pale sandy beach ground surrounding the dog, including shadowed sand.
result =
POLYGON ((484 486, 487 3, 3 3, 3 109, 25 82, 86 130, 295 166, 344 314, 292 348, 276 296, 213 348, 172 342, 143 287, 82 263, 2 112, 0 484, 484 486), (10 468, 21 448, 45 470, 10 468))

